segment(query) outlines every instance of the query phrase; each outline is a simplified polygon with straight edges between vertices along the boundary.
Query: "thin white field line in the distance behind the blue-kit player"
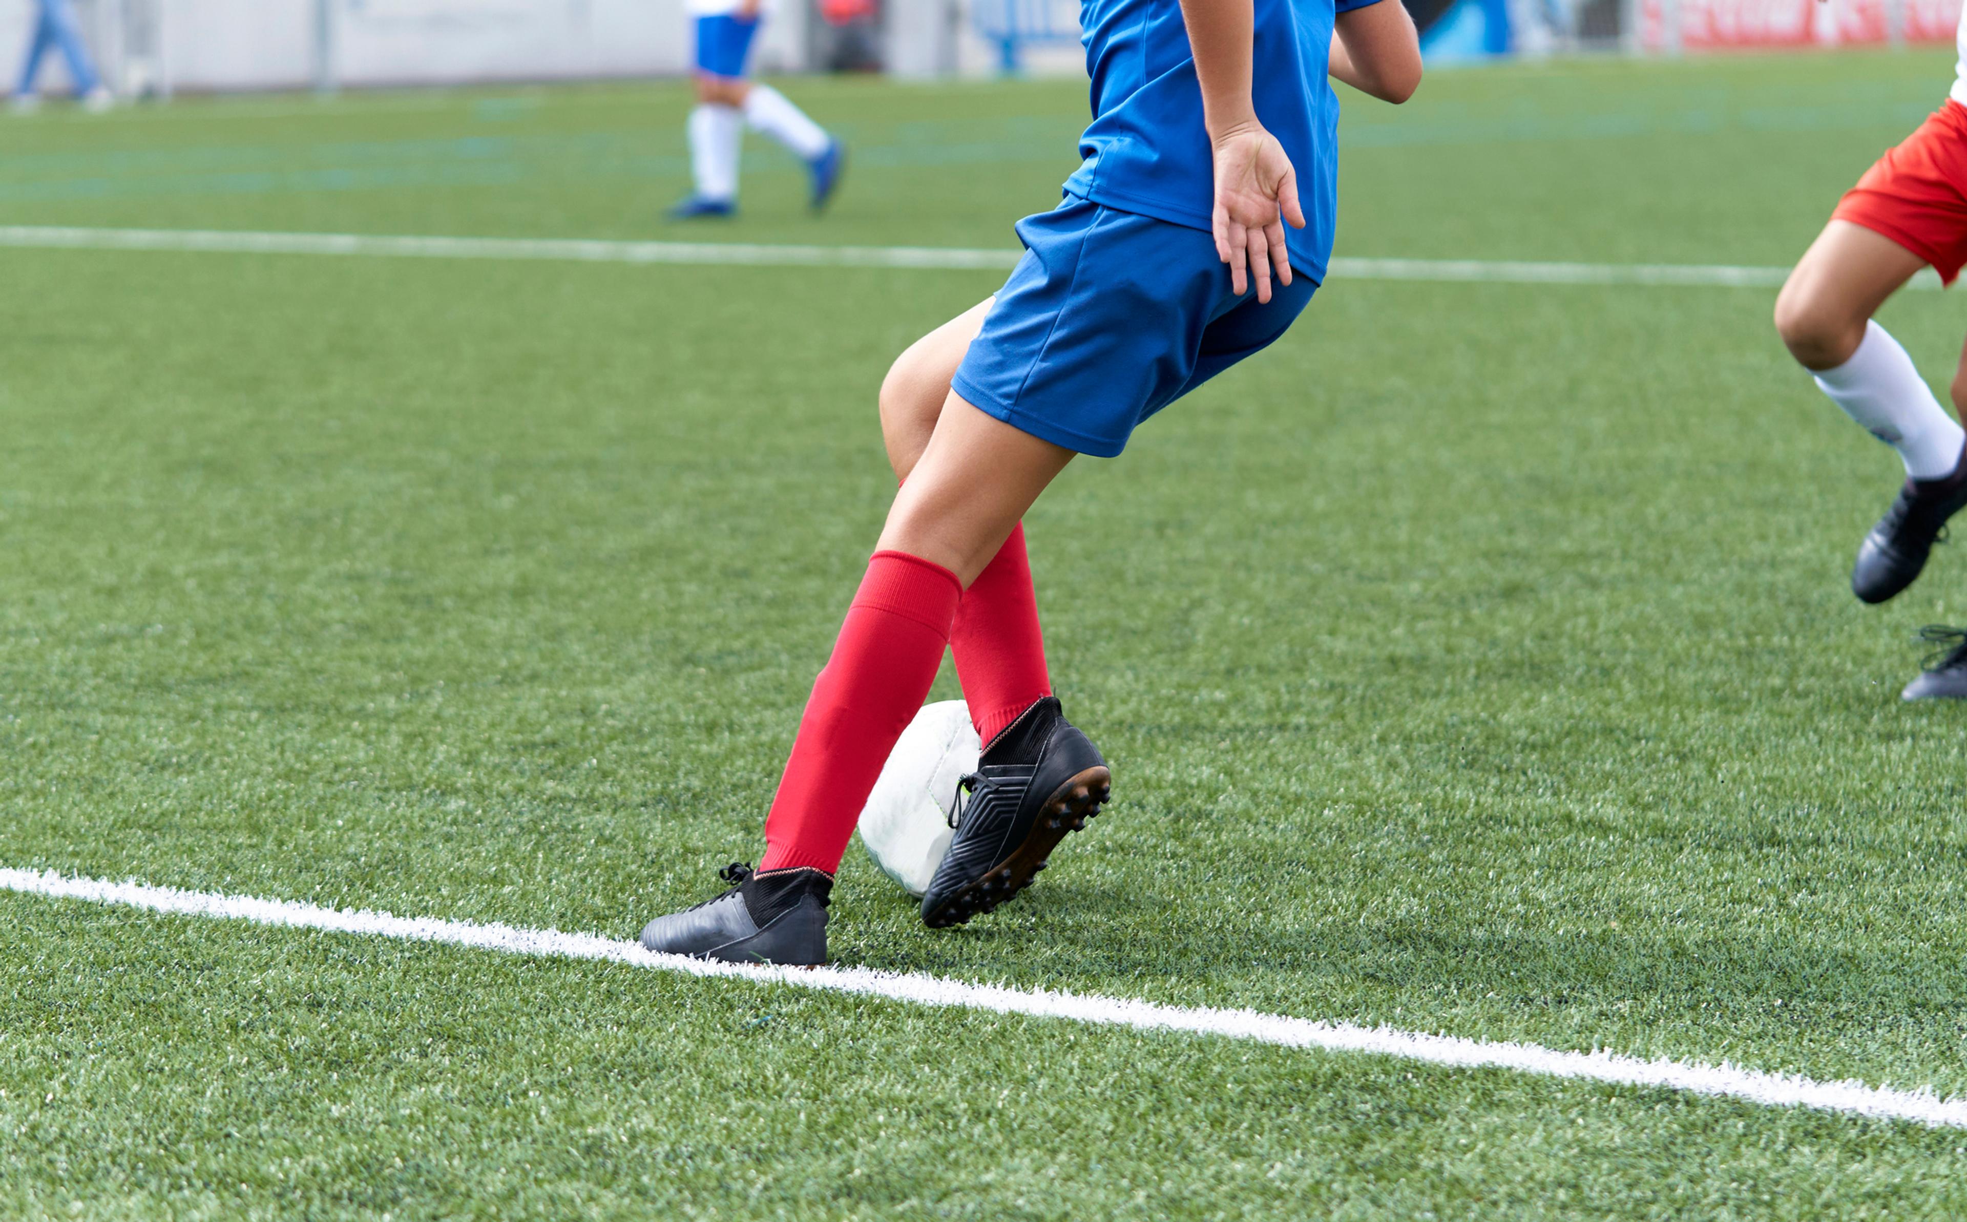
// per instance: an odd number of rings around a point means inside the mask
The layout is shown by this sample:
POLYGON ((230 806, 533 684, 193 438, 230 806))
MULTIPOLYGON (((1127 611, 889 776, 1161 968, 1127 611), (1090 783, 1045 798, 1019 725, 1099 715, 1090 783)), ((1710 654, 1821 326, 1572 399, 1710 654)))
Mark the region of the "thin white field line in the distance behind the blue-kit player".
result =
MULTIPOLYGON (((521 260, 572 264, 700 264, 745 268, 1005 270, 1015 250, 960 246, 775 246, 757 242, 602 242, 586 238, 447 238, 387 234, 299 234, 197 228, 0 226, 0 246, 61 250, 179 250, 205 254, 330 254, 368 258, 521 260)), ((1336 258, 1334 279, 1418 279, 1548 285, 1696 285, 1772 289, 1788 268, 1725 264, 1542 264, 1495 260, 1336 258)), ((1932 270, 1912 277, 1937 289, 1932 270)))

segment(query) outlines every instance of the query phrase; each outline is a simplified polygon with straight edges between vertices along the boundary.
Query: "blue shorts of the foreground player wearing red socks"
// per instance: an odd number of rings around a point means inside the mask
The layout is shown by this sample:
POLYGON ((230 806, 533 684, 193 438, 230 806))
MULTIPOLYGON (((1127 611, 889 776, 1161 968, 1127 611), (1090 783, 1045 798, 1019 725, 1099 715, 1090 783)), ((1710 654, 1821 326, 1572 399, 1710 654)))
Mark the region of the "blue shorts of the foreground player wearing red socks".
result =
POLYGON ((1198 230, 1068 195, 1017 222, 1025 258, 997 291, 952 388, 1003 423, 1111 458, 1135 425, 1253 352, 1298 317, 1318 283, 1229 291, 1229 266, 1198 230))

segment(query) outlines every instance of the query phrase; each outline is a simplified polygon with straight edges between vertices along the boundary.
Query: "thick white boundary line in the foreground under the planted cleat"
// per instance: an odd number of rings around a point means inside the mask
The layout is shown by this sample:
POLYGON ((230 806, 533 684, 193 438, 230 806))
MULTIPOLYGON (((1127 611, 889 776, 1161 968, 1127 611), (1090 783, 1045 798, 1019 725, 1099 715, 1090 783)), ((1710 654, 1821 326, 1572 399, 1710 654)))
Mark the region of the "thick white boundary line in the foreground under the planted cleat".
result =
POLYGON ((0 891, 116 903, 185 917, 222 917, 285 929, 321 929, 413 943, 445 943, 450 947, 502 950, 506 954, 596 958, 686 976, 787 984, 834 994, 913 1002, 919 1006, 1023 1013, 1107 1027, 1131 1027, 1135 1031, 1220 1035, 1290 1049, 1367 1053, 1458 1069, 1511 1069, 1552 1078, 1686 1090, 1770 1108, 1819 1108, 1880 1120, 1912 1120, 1932 1128, 1967 1128, 1967 1100, 1939 1098, 1930 1086, 1896 1090, 1857 1080, 1818 1082, 1816 1078, 1798 1074, 1772 1074, 1725 1063, 1642 1061, 1603 1051, 1566 1053, 1534 1043, 1493 1043, 1452 1035, 1424 1035, 1393 1027, 1312 1021, 1255 1009, 1157 1006, 1127 998, 999 988, 942 980, 938 976, 871 972, 867 968, 769 968, 698 962, 675 954, 651 954, 635 943, 616 943, 590 933, 515 929, 511 925, 439 921, 435 917, 393 917, 368 909, 327 909, 311 903, 254 899, 250 895, 218 895, 210 891, 149 887, 136 882, 116 884, 96 878, 67 878, 53 870, 0 868, 0 891))

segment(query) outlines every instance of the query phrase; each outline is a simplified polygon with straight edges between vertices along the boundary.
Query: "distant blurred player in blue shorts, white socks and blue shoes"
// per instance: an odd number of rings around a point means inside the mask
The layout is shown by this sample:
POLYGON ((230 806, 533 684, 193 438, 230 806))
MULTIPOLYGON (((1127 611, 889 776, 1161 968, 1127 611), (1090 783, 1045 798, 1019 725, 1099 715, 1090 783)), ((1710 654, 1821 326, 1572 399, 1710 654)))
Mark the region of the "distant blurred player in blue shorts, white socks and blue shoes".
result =
POLYGON ((771 136, 806 163, 812 209, 840 185, 844 150, 783 92, 747 79, 761 0, 690 0, 696 20, 696 108, 690 110, 690 175, 696 189, 669 211, 673 220, 730 216, 738 211, 744 130, 771 136))

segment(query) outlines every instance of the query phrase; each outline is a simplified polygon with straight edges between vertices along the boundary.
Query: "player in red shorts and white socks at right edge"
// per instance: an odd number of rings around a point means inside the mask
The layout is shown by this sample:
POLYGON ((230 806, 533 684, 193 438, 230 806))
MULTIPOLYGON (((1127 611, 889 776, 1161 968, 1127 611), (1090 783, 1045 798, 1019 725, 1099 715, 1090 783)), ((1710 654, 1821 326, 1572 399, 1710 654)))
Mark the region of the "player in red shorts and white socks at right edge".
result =
MULTIPOLYGON (((1953 283, 1967 264, 1967 10, 1953 91, 1904 144, 1878 157, 1776 297, 1776 331, 1818 386, 1873 437, 1898 451, 1906 484, 1857 551, 1851 592, 1884 602, 1918 577, 1947 518, 1967 506, 1967 433, 1939 405, 1898 340, 1873 315, 1932 266, 1953 283)), ((1953 374, 1967 403, 1967 350, 1953 374)), ((1904 697, 1967 697, 1967 632, 1930 628, 1943 645, 1904 697)))

